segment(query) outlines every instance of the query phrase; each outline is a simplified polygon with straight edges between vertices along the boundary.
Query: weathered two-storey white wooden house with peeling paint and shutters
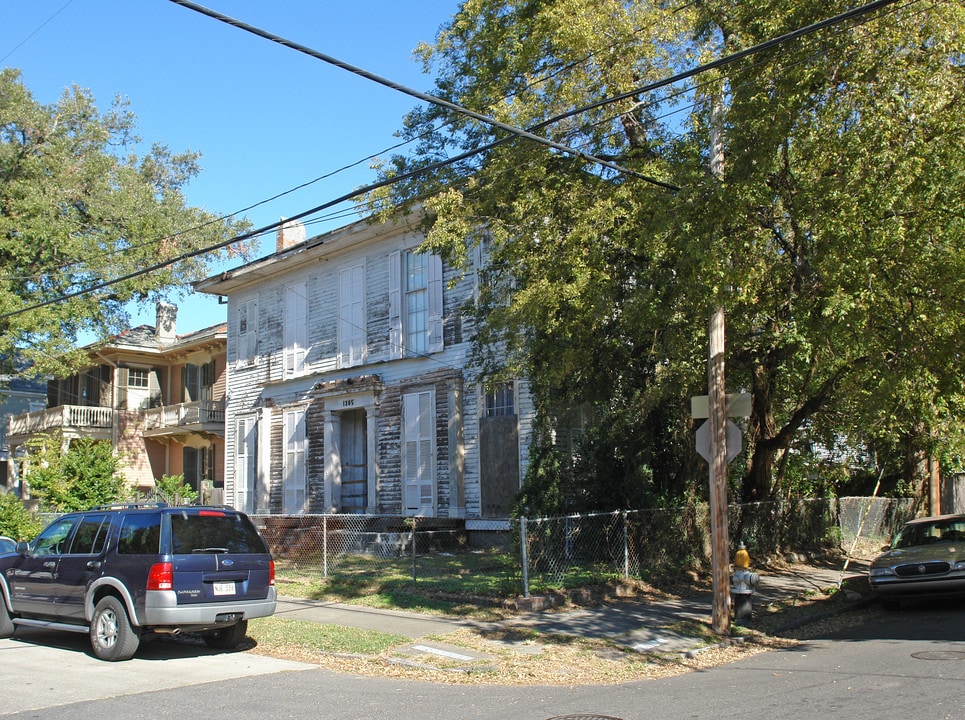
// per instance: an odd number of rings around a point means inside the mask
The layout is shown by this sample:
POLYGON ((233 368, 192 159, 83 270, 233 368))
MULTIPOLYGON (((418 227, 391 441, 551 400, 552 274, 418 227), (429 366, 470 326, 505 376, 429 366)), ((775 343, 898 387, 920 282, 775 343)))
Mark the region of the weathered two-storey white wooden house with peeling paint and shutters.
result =
POLYGON ((505 526, 529 395, 468 369, 476 272, 423 239, 416 218, 307 240, 287 223, 273 255, 195 286, 228 301, 229 504, 505 526))

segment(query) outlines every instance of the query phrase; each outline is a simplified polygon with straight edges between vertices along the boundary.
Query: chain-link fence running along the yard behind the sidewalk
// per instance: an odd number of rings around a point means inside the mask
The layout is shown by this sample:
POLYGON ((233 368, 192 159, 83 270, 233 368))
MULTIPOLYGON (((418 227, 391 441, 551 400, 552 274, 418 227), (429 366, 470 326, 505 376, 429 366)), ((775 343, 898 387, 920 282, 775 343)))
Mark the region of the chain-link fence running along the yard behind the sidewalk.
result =
MULTIPOLYGON (((759 561, 844 551, 869 558, 913 500, 840 498, 733 505, 728 527, 759 561)), ((674 577, 710 555, 706 504, 519 518, 500 547, 470 543, 464 523, 370 515, 255 516, 275 557, 281 591, 352 597, 420 586, 448 598, 508 597, 608 579, 674 577)))

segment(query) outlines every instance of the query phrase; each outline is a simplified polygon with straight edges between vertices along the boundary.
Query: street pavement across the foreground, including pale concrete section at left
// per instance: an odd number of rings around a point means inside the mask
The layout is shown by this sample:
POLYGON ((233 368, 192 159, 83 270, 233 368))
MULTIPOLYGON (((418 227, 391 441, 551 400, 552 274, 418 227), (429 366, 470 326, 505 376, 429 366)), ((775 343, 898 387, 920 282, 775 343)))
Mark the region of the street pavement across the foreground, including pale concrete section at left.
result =
MULTIPOLYGON (((149 654, 139 653, 130 663, 110 664, 87 655, 83 636, 77 636, 76 644, 67 642, 72 636, 58 637, 59 646, 51 645, 49 637, 43 644, 21 638, 0 641, 5 688, 0 715, 45 720, 156 720, 202 714, 234 720, 539 720, 563 715, 623 720, 965 718, 962 603, 912 606, 898 613, 872 608, 856 614, 845 630, 815 637, 793 650, 761 653, 666 680, 587 687, 460 686, 362 678, 250 653, 209 653, 203 648, 192 653, 166 643, 148 645, 149 654), (34 677, 29 685, 23 678, 9 681, 13 666, 40 655, 49 663, 45 678, 34 677), (179 666, 193 665, 195 659, 209 663, 212 674, 185 678, 179 666), (79 665, 70 667, 77 661, 79 665), (217 670, 225 666, 229 669, 217 670), (142 690, 112 696, 112 679, 128 671, 143 677, 142 690), (232 673, 238 674, 228 677, 232 673), (50 688, 68 682, 85 682, 101 690, 86 701, 62 697, 54 702, 50 688), (11 700, 23 694, 43 697, 32 709, 18 711, 11 700)), ((38 665, 31 673, 42 671, 38 665)))

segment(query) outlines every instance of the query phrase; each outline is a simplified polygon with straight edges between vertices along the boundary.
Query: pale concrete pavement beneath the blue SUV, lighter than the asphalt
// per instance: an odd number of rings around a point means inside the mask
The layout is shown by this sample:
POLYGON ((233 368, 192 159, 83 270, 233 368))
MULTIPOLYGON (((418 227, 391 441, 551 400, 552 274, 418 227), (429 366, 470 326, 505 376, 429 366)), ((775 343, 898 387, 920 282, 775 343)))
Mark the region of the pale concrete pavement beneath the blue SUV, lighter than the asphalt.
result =
POLYGON ((91 654, 87 635, 27 627, 0 640, 0 667, 0 715, 314 668, 251 652, 213 651, 188 639, 146 642, 132 660, 109 663, 91 654))

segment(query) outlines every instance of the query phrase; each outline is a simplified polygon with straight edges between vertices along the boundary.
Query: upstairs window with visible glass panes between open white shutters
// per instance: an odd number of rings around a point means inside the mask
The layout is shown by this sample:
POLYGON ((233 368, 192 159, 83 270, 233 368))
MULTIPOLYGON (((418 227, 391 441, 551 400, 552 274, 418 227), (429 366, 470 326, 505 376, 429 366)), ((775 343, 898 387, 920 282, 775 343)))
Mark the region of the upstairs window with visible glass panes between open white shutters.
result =
POLYGON ((417 357, 440 352, 442 259, 413 250, 389 258, 389 354, 417 357))

